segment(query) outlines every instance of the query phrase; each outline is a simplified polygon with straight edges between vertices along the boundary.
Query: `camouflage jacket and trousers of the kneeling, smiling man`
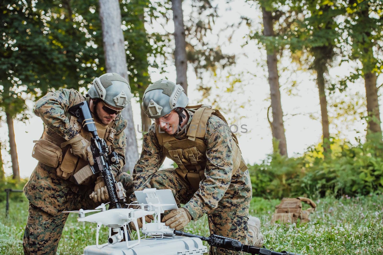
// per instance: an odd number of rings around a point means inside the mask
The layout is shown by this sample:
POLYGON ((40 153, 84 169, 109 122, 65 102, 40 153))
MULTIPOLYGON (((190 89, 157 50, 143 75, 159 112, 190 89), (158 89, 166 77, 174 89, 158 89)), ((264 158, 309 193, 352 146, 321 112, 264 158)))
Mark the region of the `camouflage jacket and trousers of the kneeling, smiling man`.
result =
MULTIPOLYGON (((193 113, 182 131, 175 134, 177 139, 185 139, 193 113)), ((240 240, 242 243, 252 240, 247 236, 247 217, 252 196, 249 171, 234 170, 230 148, 235 141, 228 124, 217 116, 211 115, 206 124, 204 142, 206 149, 205 179, 198 190, 193 190, 187 180, 181 178, 174 168, 159 170, 165 155, 155 136, 154 125, 144 134, 141 157, 134 167, 134 190, 144 188, 169 188, 177 204, 185 204, 194 221, 208 214, 210 232, 240 240), (234 231, 235 229, 235 231, 234 231), (247 241, 246 241, 247 240, 247 241)), ((134 196, 131 196, 134 200, 134 196)), ((249 242, 251 244, 251 242, 249 242)), ((211 248, 210 254, 220 253, 211 248)))

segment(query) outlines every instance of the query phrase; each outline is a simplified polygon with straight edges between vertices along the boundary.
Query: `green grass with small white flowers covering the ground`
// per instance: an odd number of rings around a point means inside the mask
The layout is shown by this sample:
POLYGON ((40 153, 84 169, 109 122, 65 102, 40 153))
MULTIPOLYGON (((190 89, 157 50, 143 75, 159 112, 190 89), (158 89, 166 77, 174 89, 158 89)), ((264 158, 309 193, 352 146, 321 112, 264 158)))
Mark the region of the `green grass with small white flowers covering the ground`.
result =
MULTIPOLYGON (((270 224, 279 200, 253 198, 250 214, 262 222, 266 248, 301 254, 383 254, 383 195, 322 198, 307 224, 270 224)), ((5 218, 5 201, 0 203, 0 254, 23 254, 22 238, 28 215, 28 202, 10 203, 5 218)), ((77 222, 69 216, 57 254, 82 254, 94 244, 95 224, 77 222)), ((189 224, 185 231, 209 235, 206 216, 189 224)), ((106 240, 106 239, 105 239, 106 240)), ((206 245, 206 244, 205 244, 206 245)))

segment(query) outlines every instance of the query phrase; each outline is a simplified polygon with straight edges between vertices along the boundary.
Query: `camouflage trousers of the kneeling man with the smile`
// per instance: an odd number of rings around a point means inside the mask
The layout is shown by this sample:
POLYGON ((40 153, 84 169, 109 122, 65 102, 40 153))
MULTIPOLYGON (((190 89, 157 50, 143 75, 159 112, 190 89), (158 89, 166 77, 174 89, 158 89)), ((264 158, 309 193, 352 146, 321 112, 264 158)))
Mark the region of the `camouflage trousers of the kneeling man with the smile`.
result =
MULTIPOLYGON (((194 195, 188 181, 183 179, 174 168, 159 170, 154 173, 146 188, 170 189, 177 205, 186 204, 194 195), (150 185, 150 186, 149 186, 150 185)), ((253 236, 248 232, 247 219, 249 208, 233 209, 229 212, 208 213, 210 234, 222 235, 239 240, 242 244, 252 244, 253 236)), ((217 247, 210 247, 210 255, 243 254, 217 247)))

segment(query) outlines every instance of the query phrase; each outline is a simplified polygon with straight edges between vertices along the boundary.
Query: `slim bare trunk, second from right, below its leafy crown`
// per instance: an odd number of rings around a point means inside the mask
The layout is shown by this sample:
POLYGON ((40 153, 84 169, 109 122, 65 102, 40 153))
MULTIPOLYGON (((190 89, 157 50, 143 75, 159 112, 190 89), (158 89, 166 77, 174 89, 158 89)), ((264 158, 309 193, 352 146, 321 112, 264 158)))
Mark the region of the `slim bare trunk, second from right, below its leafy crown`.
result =
POLYGON ((330 131, 329 131, 329 117, 327 114, 327 99, 324 89, 324 65, 316 65, 315 67, 319 90, 319 104, 321 105, 321 116, 322 116, 322 132, 323 132, 323 155, 326 156, 331 152, 330 150, 330 131))

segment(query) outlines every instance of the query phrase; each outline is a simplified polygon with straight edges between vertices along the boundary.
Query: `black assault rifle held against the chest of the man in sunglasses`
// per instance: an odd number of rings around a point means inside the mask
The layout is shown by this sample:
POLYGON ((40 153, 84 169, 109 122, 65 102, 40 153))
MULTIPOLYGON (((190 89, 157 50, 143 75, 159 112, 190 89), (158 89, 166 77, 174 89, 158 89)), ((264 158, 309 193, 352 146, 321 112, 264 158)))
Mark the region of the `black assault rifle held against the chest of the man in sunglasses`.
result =
POLYGON ((92 149, 95 164, 90 166, 90 168, 93 174, 101 172, 109 193, 111 206, 122 208, 121 203, 126 202, 126 198, 123 195, 123 186, 121 183, 116 182, 110 167, 112 164, 119 163, 117 153, 111 152, 111 154, 108 155, 108 146, 104 139, 98 137, 97 128, 87 101, 70 107, 69 113, 77 117, 77 121, 82 123, 82 127, 85 131, 92 134, 93 137, 90 141, 90 148, 92 149))

